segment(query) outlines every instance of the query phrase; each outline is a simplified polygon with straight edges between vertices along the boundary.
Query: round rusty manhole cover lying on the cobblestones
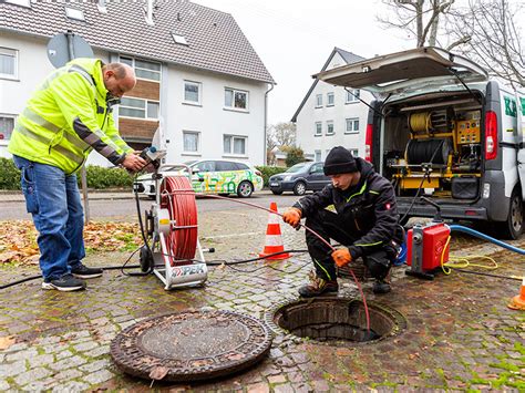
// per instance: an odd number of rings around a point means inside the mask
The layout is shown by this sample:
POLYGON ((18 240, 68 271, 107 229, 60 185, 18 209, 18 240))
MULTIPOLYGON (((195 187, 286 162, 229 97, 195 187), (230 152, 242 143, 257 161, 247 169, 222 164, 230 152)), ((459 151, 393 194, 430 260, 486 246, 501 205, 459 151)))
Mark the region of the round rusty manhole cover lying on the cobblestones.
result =
POLYGON ((256 318, 187 311, 128 327, 111 343, 111 355, 135 376, 199 381, 244 370, 261 360, 270 345, 271 333, 256 318))

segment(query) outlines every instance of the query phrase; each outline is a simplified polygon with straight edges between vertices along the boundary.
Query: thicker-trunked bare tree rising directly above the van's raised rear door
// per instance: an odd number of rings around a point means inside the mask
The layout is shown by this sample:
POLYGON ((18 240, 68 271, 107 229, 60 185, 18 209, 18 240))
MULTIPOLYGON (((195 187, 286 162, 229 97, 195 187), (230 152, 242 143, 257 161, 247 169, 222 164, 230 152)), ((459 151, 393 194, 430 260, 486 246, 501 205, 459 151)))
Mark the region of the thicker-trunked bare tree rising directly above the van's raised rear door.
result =
POLYGON ((446 15, 455 0, 383 0, 388 9, 378 21, 387 29, 408 31, 415 46, 434 46, 440 33, 440 18, 446 15))

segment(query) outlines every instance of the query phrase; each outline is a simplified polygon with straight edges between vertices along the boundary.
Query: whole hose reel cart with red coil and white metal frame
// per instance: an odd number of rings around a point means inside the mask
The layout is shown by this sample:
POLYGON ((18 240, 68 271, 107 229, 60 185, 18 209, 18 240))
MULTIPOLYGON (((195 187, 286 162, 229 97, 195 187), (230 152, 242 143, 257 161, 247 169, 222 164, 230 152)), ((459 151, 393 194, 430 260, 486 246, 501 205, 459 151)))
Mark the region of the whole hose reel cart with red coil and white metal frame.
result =
MULTIPOLYGON (((150 149, 150 153, 151 149, 150 149)), ((145 211, 144 246, 140 262, 144 275, 153 272, 164 289, 203 285, 207 279, 204 250, 197 238, 197 205, 192 188, 192 170, 184 164, 159 164, 165 152, 147 154, 154 172, 155 201, 145 211), (195 254, 198 251, 199 260, 195 254)))

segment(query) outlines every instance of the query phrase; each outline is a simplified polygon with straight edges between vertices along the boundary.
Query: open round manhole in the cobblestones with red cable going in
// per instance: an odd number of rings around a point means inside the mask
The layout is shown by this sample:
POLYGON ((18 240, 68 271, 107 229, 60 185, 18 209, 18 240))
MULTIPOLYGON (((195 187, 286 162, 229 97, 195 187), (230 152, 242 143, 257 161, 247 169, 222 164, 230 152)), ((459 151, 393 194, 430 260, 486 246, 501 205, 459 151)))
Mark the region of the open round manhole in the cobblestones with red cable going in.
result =
POLYGON ((382 304, 367 304, 370 331, 363 303, 346 298, 313 298, 281 304, 275 309, 269 323, 290 334, 322 342, 374 342, 406 328, 405 319, 398 311, 382 304))

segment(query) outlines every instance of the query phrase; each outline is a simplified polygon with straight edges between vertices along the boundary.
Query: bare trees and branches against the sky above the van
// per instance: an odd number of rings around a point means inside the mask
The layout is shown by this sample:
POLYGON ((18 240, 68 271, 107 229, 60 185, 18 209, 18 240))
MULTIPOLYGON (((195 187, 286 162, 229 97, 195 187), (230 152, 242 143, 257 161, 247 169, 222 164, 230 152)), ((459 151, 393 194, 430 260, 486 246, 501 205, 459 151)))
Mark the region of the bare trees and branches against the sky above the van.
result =
POLYGON ((384 28, 415 38, 415 46, 440 46, 464 54, 513 87, 525 86, 521 0, 383 0, 384 28))

